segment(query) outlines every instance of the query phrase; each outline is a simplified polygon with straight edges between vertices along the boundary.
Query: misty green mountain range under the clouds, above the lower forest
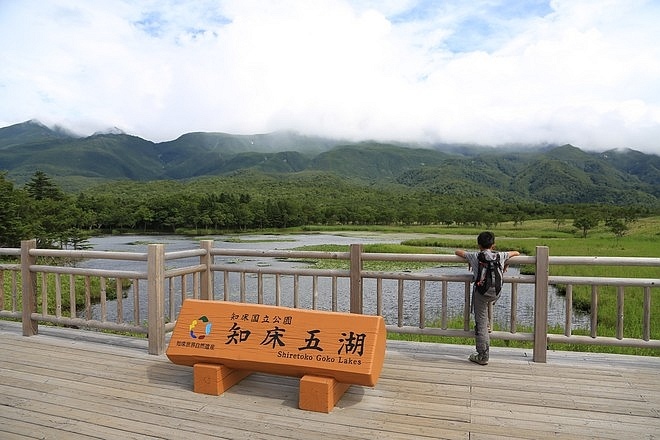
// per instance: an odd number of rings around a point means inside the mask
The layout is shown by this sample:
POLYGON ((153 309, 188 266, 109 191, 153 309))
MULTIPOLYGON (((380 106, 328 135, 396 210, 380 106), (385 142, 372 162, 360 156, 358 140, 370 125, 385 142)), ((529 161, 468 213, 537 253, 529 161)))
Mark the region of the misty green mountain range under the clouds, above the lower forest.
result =
POLYGON ((304 173, 503 202, 660 206, 660 157, 630 149, 585 152, 571 145, 422 147, 290 132, 188 133, 154 143, 124 133, 75 137, 36 121, 0 128, 0 171, 20 185, 36 170, 74 192, 118 180, 304 173))

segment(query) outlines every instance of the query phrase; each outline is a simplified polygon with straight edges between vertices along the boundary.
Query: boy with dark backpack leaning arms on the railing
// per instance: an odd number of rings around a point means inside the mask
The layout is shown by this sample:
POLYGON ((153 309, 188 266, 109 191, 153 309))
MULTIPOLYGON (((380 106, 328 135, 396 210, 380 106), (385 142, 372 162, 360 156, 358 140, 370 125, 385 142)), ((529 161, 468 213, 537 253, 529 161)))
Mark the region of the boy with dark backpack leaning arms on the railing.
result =
POLYGON ((465 258, 472 268, 472 310, 474 311, 474 335, 476 340, 477 352, 470 355, 470 361, 479 365, 488 365, 488 350, 490 348, 490 336, 488 335, 488 304, 497 301, 499 293, 494 297, 487 297, 477 292, 477 276, 479 273, 479 253, 484 252, 486 259, 494 260, 499 254, 502 272, 506 271, 507 260, 520 255, 518 251, 496 252, 495 235, 492 232, 484 231, 477 237, 479 252, 468 252, 462 249, 456 249, 455 254, 465 258))

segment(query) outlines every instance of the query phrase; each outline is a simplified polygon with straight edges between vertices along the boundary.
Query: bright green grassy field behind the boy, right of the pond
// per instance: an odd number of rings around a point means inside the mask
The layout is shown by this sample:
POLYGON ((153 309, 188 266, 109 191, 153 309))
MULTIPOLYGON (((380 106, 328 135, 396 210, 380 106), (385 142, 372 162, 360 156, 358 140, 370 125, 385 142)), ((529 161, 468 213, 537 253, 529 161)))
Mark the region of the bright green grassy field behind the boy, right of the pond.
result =
MULTIPOLYGON (((557 225, 553 220, 533 220, 523 224, 502 223, 490 228, 497 241, 499 250, 519 250, 525 255, 534 255, 537 246, 548 246, 550 255, 562 256, 620 256, 620 257, 660 257, 658 245, 660 244, 660 217, 642 218, 629 225, 629 231, 622 237, 616 237, 607 227, 601 225, 590 230, 586 238, 581 231, 575 230, 567 221, 564 225, 557 225)), ((318 230, 323 230, 319 228, 318 230)), ((347 231, 349 229, 346 229, 347 231)), ((350 229, 355 231, 355 228, 350 229)), ((427 237, 416 238, 402 242, 401 245, 369 245, 365 246, 367 252, 450 252, 451 249, 474 249, 476 236, 482 231, 480 228, 466 227, 405 227, 405 228, 364 228, 364 231, 384 233, 417 233, 428 234, 427 237)), ((311 229, 307 229, 311 231, 311 229)), ((333 229, 337 232, 337 229, 333 229)), ((330 232, 330 230, 326 231, 330 232)), ((341 232, 341 231, 340 231, 341 232)), ((345 250, 341 247, 325 248, 323 250, 345 250)), ((336 263, 335 263, 336 264, 336 263)), ((393 263, 381 263, 390 264, 393 263)), ((397 270, 400 267, 376 267, 370 270, 397 270)), ((417 269, 406 267, 406 269, 417 269)), ((522 268, 533 270, 533 268, 522 268)), ((653 278, 660 279, 658 267, 619 267, 619 266, 551 266, 551 275, 565 276, 597 276, 621 278, 653 278)), ((558 286, 560 289, 562 286, 558 286)), ((615 336, 617 317, 617 294, 614 287, 603 286, 598 291, 598 329, 599 336, 615 336)), ((574 309, 581 313, 591 311, 591 288, 589 286, 574 286, 574 309)), ((641 338, 642 335, 642 289, 627 288, 624 302, 624 337, 641 338)), ((428 326, 435 326, 433 322, 428 326)), ((452 324, 455 328, 462 328, 460 319, 452 324)), ((531 329, 520 329, 531 331, 531 329)), ((553 333, 563 333, 562 328, 550 330, 553 333)), ((575 330, 574 334, 588 334, 587 330, 575 330)), ((416 335, 390 335, 392 338, 413 339, 423 341, 449 342, 472 344, 470 339, 438 338, 432 336, 416 335)), ((652 290, 651 300, 651 337, 660 339, 660 291, 652 290)), ((493 341, 493 345, 528 346, 524 343, 507 341, 493 341)), ((660 356, 658 350, 633 349, 600 346, 551 346, 551 349, 599 351, 614 353, 631 353, 641 355, 660 356)))

